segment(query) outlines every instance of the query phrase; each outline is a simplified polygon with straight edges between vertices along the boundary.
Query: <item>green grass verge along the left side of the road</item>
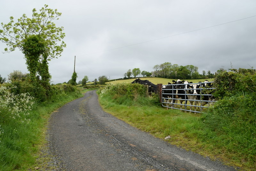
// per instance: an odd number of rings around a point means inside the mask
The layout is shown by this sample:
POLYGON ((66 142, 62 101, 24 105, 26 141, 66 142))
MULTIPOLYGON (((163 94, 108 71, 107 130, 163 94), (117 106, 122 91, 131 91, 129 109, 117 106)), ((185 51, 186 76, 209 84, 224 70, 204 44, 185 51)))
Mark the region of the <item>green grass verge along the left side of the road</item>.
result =
MULTIPOLYGON (((82 93, 88 90, 82 91, 82 93)), ((0 171, 51 170, 47 162, 51 157, 42 153, 47 149, 46 129, 51 113, 62 105, 82 97, 81 93, 63 93, 52 101, 34 104, 30 111, 29 124, 10 122, 1 124, 4 133, 0 136, 0 171)))

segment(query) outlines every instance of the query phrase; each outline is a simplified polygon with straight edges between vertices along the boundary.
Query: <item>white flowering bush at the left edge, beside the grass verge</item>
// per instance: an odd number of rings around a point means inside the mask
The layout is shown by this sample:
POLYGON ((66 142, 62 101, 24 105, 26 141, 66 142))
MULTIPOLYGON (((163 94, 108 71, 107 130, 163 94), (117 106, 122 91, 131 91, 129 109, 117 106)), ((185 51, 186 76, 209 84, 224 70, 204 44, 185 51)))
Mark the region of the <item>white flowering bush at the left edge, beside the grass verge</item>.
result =
POLYGON ((12 120, 28 123, 30 120, 26 116, 29 115, 34 104, 33 97, 30 97, 28 93, 15 95, 10 92, 10 89, 13 88, 0 87, 0 120, 2 122, 12 120))

